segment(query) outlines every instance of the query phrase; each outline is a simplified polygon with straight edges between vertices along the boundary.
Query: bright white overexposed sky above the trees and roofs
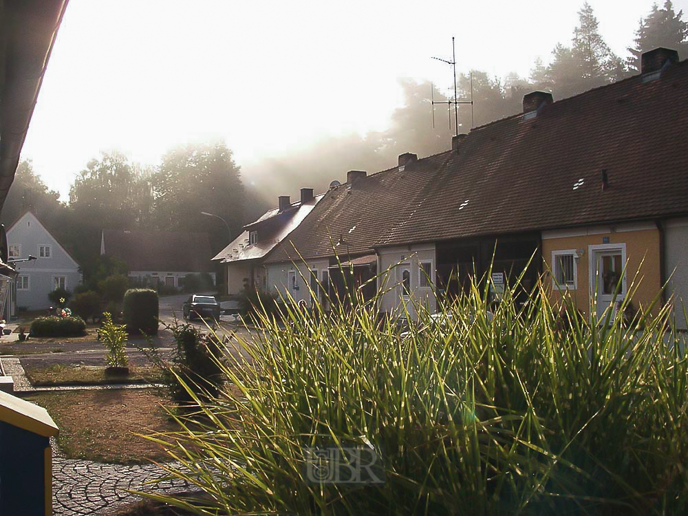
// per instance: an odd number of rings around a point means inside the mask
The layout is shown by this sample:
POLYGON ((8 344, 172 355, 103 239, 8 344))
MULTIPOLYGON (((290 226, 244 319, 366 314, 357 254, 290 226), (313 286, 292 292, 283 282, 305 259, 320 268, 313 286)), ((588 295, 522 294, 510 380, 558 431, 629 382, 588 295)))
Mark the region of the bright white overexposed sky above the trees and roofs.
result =
MULTIPOLYGON (((652 0, 590 3, 625 57, 652 0)), ((175 145, 222 138, 250 180, 261 157, 385 129, 398 77, 451 85, 451 68, 430 59, 451 58, 451 36, 460 71, 527 76, 570 42, 582 4, 70 0, 22 157, 66 200, 100 151, 157 164, 175 145)))

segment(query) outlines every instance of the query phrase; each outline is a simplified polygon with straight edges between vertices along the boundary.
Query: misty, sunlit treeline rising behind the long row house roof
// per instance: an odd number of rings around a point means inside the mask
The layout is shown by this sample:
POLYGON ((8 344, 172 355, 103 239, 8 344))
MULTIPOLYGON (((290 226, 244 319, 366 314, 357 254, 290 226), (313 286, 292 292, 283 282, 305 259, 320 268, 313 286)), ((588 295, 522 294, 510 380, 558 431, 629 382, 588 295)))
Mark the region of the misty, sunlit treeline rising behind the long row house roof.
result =
MULTIPOLYGON (((524 94, 533 89, 547 89, 558 100, 637 74, 641 54, 655 47, 673 48, 680 58, 687 58, 688 24, 682 17, 682 11, 676 12, 671 1, 665 1, 663 7, 655 4, 640 21, 627 56, 618 56, 605 43, 592 7, 583 4, 570 43, 556 45, 550 63, 535 61, 528 77, 510 73, 502 79, 476 69, 460 76, 462 100, 470 98, 473 78, 474 105, 473 120, 471 107, 459 107, 459 131, 468 132, 471 127, 518 113, 524 94)), ((457 50, 459 55, 471 53, 470 48, 457 50)), ((431 95, 430 83, 402 79, 400 84, 405 103, 392 114, 387 131, 323 138, 309 147, 264 159, 247 173, 270 197, 295 195, 300 186, 323 191, 331 180, 343 180, 347 170, 387 169, 401 153, 424 156, 446 151, 455 131, 453 116, 447 114, 446 106, 435 108, 434 126, 431 116, 431 96, 440 101, 447 100, 446 96, 437 88, 431 95)), ((444 91, 453 94, 452 85, 444 91)))

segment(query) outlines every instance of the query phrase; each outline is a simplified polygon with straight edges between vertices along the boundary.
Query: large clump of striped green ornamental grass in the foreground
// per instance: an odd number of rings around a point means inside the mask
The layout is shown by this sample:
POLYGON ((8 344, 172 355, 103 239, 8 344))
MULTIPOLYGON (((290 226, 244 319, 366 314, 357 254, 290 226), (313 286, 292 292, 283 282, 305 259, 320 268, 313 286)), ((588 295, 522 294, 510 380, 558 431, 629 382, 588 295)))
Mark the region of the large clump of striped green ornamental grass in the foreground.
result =
POLYGON ((410 301, 401 334, 360 290, 329 314, 259 314, 241 358, 217 361, 217 396, 189 389, 202 422, 152 437, 203 501, 151 496, 202 515, 687 513, 688 361, 668 308, 591 323, 539 284, 488 313, 480 285, 442 321, 410 301), (376 451, 384 482, 314 483, 308 449, 339 446, 376 451))

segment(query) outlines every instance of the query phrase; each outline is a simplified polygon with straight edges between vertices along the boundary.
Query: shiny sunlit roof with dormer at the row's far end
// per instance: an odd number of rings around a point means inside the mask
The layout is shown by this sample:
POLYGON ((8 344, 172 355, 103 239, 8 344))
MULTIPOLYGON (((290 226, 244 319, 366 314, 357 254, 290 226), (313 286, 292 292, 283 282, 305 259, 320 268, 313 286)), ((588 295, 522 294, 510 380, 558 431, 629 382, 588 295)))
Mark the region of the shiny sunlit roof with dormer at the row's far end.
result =
POLYGON ((316 195, 308 202, 296 202, 284 211, 278 208, 268 210, 255 222, 246 224, 247 228, 235 238, 226 248, 217 253, 213 260, 226 264, 233 261, 264 258, 277 244, 286 239, 303 219, 313 210, 324 194, 316 195), (258 241, 250 244, 250 231, 258 231, 258 241))

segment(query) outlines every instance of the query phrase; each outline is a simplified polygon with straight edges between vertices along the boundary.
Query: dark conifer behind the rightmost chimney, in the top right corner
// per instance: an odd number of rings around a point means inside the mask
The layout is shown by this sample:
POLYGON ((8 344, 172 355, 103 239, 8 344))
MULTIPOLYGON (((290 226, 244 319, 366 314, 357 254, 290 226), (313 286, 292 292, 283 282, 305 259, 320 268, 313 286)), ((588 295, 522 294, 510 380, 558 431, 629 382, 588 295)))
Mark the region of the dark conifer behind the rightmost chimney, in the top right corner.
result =
POLYGON ((641 19, 636 31, 635 46, 629 47, 628 67, 633 72, 640 72, 640 59, 643 52, 656 47, 667 47, 678 50, 680 58, 688 57, 688 23, 682 21, 683 11, 676 13, 671 0, 660 9, 655 3, 652 11, 641 19))

